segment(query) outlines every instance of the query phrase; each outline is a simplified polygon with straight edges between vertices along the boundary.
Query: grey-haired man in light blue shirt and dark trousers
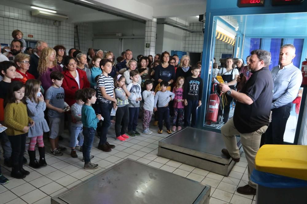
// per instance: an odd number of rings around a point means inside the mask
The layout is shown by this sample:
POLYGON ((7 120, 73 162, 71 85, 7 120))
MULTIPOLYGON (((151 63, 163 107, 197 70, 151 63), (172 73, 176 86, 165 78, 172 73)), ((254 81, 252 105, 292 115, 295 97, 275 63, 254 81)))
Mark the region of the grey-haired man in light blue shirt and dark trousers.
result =
POLYGON ((292 101, 297 96, 303 79, 300 69, 292 63, 294 57, 295 47, 291 44, 283 45, 279 53, 280 64, 271 70, 274 82, 272 122, 262 135, 262 144, 283 144, 292 101))

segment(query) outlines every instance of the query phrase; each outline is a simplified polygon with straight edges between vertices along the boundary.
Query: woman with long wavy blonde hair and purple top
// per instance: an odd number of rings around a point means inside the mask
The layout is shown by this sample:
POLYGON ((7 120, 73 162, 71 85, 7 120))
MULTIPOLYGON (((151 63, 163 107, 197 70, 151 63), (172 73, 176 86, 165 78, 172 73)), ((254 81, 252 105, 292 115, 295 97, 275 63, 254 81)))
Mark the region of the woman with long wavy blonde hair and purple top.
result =
POLYGON ((57 65, 55 50, 50 47, 46 47, 41 51, 37 71, 40 76, 41 86, 43 87, 44 91, 47 91, 47 89, 52 86, 52 81, 50 79, 51 72, 63 72, 62 67, 57 65))

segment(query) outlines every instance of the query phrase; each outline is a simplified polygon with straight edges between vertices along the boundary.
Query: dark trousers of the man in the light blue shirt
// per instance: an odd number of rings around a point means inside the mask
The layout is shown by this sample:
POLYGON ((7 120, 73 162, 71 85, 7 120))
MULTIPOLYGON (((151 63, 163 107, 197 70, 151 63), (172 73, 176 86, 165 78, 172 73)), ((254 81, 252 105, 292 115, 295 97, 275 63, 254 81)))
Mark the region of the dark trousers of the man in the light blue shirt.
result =
POLYGON ((286 124, 290 116, 291 106, 285 105, 272 109, 272 121, 269 128, 262 135, 265 144, 283 144, 286 124))

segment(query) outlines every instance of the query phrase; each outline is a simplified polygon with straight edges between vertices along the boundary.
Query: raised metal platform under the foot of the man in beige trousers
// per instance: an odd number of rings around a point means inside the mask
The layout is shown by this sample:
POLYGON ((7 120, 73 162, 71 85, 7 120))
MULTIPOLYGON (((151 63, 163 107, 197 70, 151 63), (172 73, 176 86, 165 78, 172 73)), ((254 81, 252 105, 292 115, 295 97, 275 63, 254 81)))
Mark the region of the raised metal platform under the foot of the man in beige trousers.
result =
MULTIPOLYGON (((240 138, 236 139, 241 154, 240 138)), ((223 148, 220 133, 188 127, 160 140, 158 155, 228 176, 235 162, 222 154, 223 148)))

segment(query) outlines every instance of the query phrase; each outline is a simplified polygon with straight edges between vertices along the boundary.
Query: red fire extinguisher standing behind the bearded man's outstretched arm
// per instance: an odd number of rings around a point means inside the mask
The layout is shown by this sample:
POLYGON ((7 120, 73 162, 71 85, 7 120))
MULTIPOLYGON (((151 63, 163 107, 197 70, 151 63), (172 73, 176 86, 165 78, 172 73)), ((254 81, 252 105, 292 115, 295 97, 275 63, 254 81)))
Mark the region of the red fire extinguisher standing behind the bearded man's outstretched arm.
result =
MULTIPOLYGON (((222 106, 221 96, 217 93, 217 90, 214 90, 217 83, 214 83, 212 86, 212 94, 209 96, 208 109, 206 113, 206 122, 208 125, 217 121, 217 114, 219 112, 219 107, 222 106)), ((222 92, 221 92, 222 94, 222 92)), ((222 107, 221 107, 222 108, 222 107)))

